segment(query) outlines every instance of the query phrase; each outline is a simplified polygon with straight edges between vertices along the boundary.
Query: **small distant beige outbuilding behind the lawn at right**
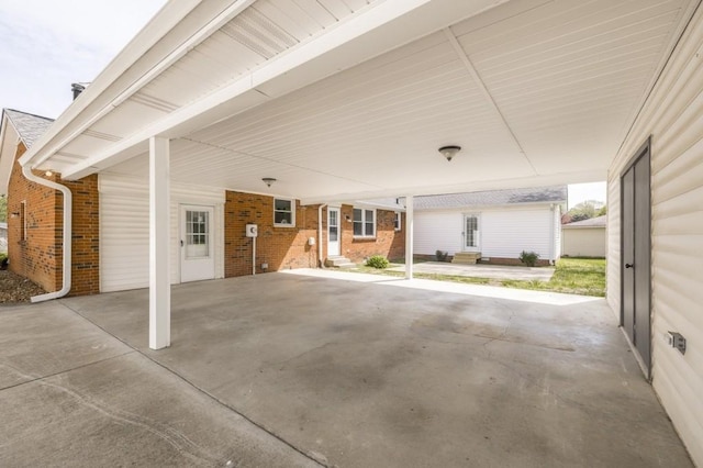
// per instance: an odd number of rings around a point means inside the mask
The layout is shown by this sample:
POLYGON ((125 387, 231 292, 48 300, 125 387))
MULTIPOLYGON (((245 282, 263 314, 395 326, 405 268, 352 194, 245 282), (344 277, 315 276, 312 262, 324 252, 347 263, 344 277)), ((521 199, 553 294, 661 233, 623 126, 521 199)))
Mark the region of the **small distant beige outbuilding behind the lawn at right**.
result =
POLYGON ((565 257, 605 258, 607 215, 577 221, 561 226, 561 255, 565 257))

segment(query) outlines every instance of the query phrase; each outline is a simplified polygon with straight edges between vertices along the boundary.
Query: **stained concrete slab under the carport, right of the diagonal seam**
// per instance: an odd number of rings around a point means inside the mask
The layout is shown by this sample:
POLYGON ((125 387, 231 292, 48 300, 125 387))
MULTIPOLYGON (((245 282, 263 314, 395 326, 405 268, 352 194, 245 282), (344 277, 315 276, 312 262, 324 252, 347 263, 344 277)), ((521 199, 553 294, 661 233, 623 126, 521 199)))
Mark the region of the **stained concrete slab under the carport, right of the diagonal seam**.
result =
POLYGON ((604 300, 335 278, 174 287, 159 352, 147 291, 62 302, 326 466, 692 466, 604 300))

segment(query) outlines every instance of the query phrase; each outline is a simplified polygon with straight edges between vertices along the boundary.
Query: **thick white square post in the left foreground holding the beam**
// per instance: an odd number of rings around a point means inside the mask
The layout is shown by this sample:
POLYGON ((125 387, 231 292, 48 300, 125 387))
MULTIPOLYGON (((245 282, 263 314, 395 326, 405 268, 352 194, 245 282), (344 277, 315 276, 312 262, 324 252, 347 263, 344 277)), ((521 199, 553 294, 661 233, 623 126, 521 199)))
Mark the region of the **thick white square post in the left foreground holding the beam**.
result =
POLYGON ((149 347, 171 344, 169 141, 149 140, 149 347))

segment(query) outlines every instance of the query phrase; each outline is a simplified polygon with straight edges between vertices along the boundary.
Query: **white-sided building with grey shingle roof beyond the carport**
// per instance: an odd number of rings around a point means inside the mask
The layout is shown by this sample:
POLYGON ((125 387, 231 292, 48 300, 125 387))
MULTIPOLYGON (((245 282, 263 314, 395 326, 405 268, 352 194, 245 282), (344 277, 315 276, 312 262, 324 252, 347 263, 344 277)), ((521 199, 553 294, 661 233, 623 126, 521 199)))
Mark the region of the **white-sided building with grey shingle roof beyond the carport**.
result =
POLYGON ((567 187, 491 190, 415 198, 415 255, 520 265, 523 250, 538 265, 559 258, 567 187))

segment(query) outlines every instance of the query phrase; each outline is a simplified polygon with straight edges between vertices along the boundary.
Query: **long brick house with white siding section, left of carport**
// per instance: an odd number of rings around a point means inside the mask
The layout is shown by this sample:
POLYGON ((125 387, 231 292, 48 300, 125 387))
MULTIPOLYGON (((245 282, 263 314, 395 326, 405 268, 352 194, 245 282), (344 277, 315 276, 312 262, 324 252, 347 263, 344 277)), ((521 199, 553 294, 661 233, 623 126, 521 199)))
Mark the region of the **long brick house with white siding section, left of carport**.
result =
MULTIPOLYGON (((16 160, 52 122, 5 109, 0 133, 10 269, 48 291, 63 285, 63 197, 27 180, 16 160)), ((148 181, 101 172, 62 183, 72 193, 70 294, 148 287, 148 181)), ((314 268, 328 257, 361 263, 372 255, 404 255, 401 215, 393 207, 301 205, 290 197, 185 183, 171 183, 170 200, 171 283, 314 268), (255 256, 247 224, 258 227, 255 256)))

